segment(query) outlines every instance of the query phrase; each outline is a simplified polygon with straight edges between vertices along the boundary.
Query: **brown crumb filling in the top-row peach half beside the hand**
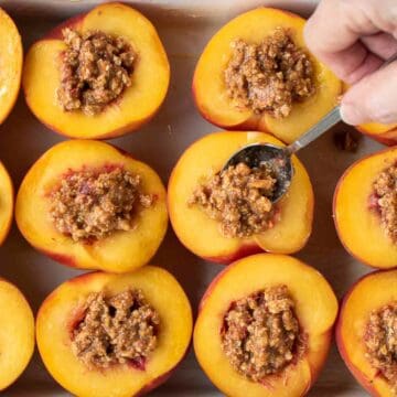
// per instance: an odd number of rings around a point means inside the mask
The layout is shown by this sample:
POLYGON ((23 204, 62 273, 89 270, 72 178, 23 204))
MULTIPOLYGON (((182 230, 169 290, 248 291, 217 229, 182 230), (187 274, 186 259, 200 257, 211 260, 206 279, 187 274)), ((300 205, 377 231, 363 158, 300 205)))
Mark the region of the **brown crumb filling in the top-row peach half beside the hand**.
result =
POLYGON ((277 28, 260 44, 236 40, 225 69, 227 95, 240 109, 287 117, 314 93, 313 66, 290 33, 277 28))

